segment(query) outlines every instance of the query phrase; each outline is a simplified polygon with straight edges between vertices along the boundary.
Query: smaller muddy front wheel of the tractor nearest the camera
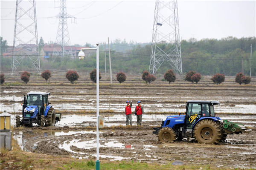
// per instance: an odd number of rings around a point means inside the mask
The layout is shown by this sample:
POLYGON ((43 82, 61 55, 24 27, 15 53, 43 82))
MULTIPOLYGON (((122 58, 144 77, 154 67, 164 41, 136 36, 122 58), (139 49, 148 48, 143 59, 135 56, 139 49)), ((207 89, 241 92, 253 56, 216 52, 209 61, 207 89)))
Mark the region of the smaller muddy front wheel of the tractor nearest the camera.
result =
POLYGON ((170 127, 163 127, 158 133, 158 140, 160 142, 174 142, 176 140, 176 133, 170 127))

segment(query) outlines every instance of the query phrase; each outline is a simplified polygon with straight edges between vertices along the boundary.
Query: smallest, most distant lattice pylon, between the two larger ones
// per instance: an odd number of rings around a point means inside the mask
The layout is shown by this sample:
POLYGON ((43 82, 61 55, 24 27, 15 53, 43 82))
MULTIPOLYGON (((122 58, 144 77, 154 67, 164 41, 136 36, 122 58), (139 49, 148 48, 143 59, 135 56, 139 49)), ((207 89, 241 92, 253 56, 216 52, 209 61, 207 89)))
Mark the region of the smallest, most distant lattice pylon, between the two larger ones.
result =
POLYGON ((53 55, 64 56, 72 54, 72 48, 70 47, 70 36, 67 27, 67 18, 71 18, 74 21, 76 17, 67 14, 66 0, 60 0, 60 13, 56 16, 59 18, 59 26, 56 37, 56 45, 61 45, 61 50, 54 49, 53 55), (65 50, 65 47, 68 49, 65 50))

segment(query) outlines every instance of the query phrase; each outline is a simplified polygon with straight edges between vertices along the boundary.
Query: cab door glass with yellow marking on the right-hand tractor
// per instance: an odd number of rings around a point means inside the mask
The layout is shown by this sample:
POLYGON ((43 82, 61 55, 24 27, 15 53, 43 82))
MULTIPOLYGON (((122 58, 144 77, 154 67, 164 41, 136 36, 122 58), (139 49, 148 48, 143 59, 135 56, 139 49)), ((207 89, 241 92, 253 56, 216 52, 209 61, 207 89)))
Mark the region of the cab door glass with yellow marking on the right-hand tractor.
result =
POLYGON ((195 122, 201 117, 201 104, 189 103, 186 114, 186 127, 191 129, 195 122))

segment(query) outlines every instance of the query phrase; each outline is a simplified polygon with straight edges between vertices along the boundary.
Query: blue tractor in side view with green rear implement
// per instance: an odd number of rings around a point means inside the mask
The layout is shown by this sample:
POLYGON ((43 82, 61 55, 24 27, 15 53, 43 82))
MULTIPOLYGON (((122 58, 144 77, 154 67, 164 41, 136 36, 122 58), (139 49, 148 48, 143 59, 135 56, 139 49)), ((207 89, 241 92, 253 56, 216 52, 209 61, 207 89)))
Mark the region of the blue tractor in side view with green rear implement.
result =
POLYGON ((187 101, 185 114, 166 116, 162 126, 154 128, 161 142, 174 142, 183 138, 194 138, 203 144, 218 144, 226 140, 227 134, 249 132, 242 124, 221 120, 215 116, 214 105, 218 101, 187 101))

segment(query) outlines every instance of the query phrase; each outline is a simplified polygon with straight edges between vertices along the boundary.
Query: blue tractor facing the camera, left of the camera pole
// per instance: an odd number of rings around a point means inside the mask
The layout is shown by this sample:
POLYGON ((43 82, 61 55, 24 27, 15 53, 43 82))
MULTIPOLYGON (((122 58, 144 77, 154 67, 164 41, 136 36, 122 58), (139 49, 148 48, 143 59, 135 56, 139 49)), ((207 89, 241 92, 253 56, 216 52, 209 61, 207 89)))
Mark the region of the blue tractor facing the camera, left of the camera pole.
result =
POLYGON ((22 120, 16 116, 16 127, 20 125, 32 126, 33 123, 44 126, 55 126, 55 122, 61 120, 61 113, 56 114, 50 105, 48 96, 50 93, 30 92, 24 95, 22 105, 22 120))

